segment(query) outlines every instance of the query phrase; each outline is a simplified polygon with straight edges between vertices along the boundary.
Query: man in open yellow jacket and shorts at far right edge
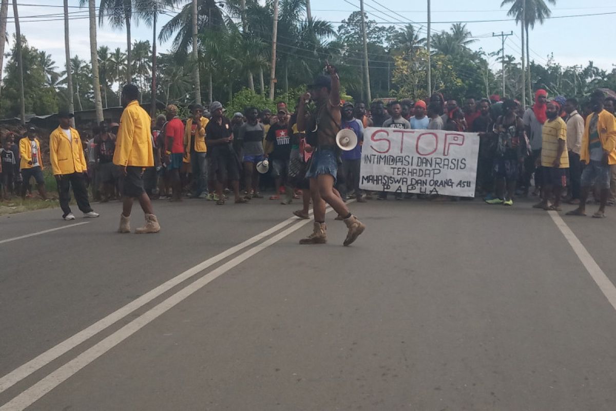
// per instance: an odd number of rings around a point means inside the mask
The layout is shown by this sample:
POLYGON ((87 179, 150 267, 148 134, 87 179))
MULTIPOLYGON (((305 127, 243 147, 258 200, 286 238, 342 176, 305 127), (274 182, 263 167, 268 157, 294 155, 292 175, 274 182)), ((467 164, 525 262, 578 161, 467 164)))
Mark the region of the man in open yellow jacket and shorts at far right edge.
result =
POLYGON ((586 163, 582 172, 582 198, 580 206, 569 211, 567 216, 586 215, 586 198, 593 186, 601 190, 601 203, 593 218, 606 216, 607 197, 610 192, 610 165, 616 164, 616 118, 604 110, 605 99, 606 96, 601 90, 594 91, 590 97, 593 113, 586 117, 580 149, 580 160, 586 163))

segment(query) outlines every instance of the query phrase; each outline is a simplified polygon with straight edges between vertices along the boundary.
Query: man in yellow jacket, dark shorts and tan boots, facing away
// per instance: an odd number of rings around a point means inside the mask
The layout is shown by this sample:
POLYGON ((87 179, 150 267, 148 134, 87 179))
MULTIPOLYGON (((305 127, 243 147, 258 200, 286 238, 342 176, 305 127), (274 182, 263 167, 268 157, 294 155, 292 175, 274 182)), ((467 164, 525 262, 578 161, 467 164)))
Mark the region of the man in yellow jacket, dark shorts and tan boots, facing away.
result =
POLYGON ((146 167, 154 166, 152 151, 152 120, 139 105, 139 89, 134 84, 126 84, 122 89, 121 100, 124 111, 120 118, 120 129, 116 137, 116 149, 113 164, 121 167, 122 195, 124 196, 120 229, 118 232, 131 232, 129 218, 132 203, 137 198, 145 213, 145 226, 135 230, 137 234, 156 233, 160 231, 158 219, 154 215, 152 202, 144 188, 146 167))

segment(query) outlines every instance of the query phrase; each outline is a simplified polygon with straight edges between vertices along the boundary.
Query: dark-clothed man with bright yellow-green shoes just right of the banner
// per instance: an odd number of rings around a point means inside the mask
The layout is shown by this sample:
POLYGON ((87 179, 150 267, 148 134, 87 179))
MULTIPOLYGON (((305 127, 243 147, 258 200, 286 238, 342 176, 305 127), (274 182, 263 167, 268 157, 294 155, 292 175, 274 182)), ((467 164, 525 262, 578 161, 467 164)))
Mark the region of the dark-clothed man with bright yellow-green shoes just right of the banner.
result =
POLYGON ((524 159, 529 155, 524 122, 517 115, 516 109, 514 100, 505 99, 504 114, 499 116, 494 124, 494 132, 498 136, 494 160, 496 197, 485 200, 488 204, 513 205, 517 179, 520 177, 524 159))

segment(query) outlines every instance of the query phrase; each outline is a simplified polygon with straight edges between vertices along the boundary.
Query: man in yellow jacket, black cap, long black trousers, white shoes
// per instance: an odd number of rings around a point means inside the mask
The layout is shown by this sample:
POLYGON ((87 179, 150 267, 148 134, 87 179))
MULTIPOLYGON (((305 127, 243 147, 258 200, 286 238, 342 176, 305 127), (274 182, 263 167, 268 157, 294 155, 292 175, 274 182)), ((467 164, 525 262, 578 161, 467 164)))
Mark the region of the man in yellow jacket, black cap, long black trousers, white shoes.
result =
POLYGON ((83 145, 79 132, 72 128, 70 119, 73 113, 62 112, 58 115, 60 126, 51 132, 49 136, 49 160, 54 172, 55 181, 58 185, 60 196, 60 208, 62 208, 62 218, 70 221, 75 216, 71 212, 68 201, 71 200, 69 192, 73 187, 75 201, 84 217, 98 217, 94 213, 87 199, 87 163, 83 153, 83 145))

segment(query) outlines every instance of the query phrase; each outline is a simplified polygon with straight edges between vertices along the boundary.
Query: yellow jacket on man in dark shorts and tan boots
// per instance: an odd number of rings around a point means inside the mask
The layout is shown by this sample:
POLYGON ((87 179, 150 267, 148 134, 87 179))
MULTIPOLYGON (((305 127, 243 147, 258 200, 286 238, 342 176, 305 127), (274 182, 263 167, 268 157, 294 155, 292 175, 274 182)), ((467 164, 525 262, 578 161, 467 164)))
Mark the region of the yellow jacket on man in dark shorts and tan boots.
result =
POLYGON ((113 153, 113 164, 118 166, 153 167, 152 119, 137 100, 132 100, 120 118, 120 129, 113 153))

